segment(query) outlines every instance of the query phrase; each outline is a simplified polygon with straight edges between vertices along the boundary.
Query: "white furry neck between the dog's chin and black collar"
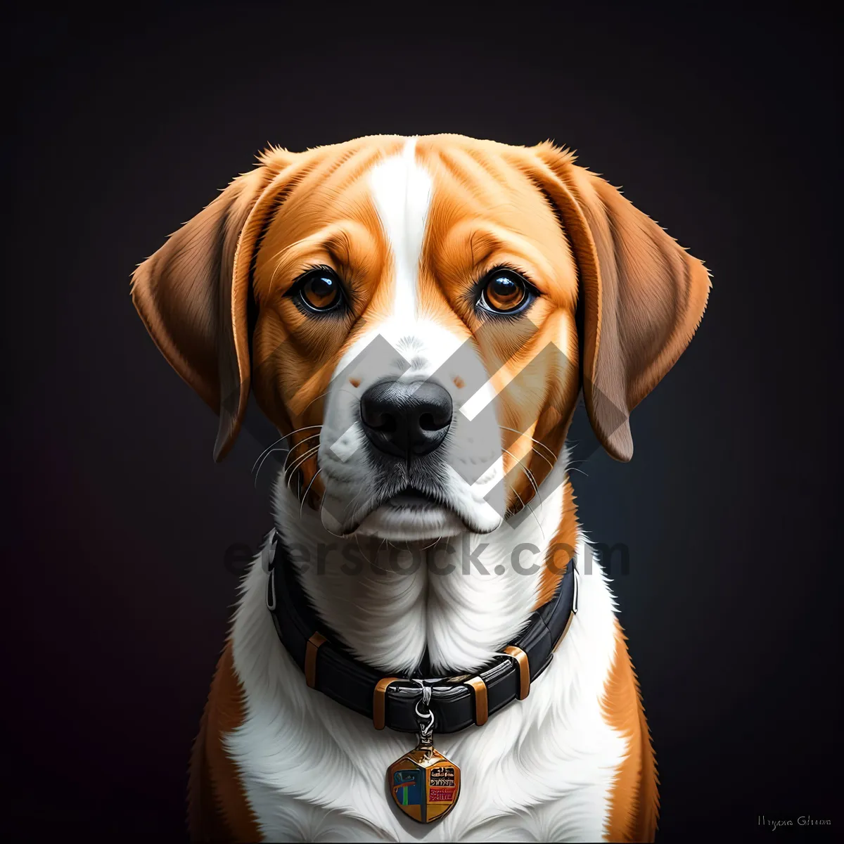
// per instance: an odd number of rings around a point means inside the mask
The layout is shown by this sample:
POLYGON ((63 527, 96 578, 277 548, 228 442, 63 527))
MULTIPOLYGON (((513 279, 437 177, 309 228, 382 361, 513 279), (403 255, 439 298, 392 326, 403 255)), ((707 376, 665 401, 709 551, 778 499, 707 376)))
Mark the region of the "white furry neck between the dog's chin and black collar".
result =
MULTIPOLYGON (((436 544, 338 538, 284 484, 273 495, 275 526, 317 614, 354 657, 397 675, 426 656, 433 674, 474 672, 526 625, 552 545, 576 544, 560 536, 573 506, 565 458, 564 450, 529 509, 493 533, 436 544)), ((561 565, 564 557, 556 555, 561 565)))

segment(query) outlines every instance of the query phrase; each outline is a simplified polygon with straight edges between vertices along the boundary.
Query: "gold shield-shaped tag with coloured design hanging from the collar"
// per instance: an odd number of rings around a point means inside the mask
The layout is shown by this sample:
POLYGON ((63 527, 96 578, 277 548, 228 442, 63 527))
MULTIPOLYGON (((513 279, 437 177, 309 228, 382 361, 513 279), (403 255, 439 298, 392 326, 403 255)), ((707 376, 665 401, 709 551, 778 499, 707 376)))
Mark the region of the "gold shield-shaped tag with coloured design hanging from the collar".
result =
POLYGON ((460 796, 460 769, 434 748, 430 734, 387 768, 392 799, 408 818, 430 824, 444 818, 460 796))

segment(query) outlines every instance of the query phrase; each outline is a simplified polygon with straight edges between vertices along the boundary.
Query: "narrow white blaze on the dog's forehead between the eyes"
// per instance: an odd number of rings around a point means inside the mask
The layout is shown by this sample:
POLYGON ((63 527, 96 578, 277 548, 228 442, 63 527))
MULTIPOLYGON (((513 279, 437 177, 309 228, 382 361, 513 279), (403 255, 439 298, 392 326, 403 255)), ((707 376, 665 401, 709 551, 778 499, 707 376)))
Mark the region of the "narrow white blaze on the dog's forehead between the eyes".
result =
POLYGON ((416 138, 408 138, 400 155, 381 161, 371 170, 370 187, 396 273, 392 316, 413 319, 433 189, 430 174, 416 161, 416 138))

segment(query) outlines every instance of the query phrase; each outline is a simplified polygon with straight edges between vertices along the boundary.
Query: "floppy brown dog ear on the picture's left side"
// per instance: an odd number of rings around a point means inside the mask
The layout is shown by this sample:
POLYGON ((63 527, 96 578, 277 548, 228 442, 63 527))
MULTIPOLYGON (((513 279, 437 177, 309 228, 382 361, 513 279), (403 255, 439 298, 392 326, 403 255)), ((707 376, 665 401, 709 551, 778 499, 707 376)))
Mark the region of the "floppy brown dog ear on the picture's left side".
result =
POLYGON ((241 428, 249 398, 252 256, 295 154, 271 149, 133 273, 132 299, 170 365, 219 414, 214 459, 241 428))

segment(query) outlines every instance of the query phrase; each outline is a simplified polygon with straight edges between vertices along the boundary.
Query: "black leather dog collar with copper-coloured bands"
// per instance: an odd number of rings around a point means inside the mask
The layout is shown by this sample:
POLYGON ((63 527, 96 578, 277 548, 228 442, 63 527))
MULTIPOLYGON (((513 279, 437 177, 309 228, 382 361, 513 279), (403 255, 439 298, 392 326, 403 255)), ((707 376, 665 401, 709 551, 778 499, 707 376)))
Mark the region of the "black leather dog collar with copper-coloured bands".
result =
POLYGON ((376 729, 418 732, 415 707, 421 696, 429 695, 438 733, 457 733, 472 724, 484 724, 511 701, 527 697, 577 613, 578 581, 572 558, 554 597, 530 615, 516 641, 479 674, 465 678, 384 677, 352 657, 338 642, 330 641, 330 631, 306 598, 274 528, 265 538, 261 557, 268 571, 267 606, 273 624, 287 652, 304 672, 306 683, 371 718, 376 729))

